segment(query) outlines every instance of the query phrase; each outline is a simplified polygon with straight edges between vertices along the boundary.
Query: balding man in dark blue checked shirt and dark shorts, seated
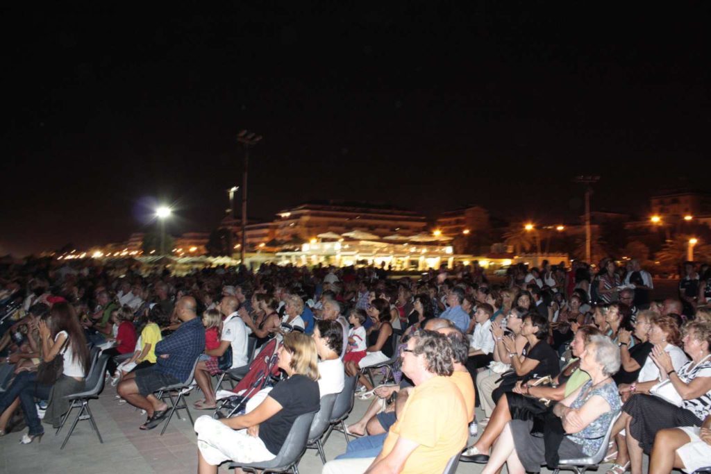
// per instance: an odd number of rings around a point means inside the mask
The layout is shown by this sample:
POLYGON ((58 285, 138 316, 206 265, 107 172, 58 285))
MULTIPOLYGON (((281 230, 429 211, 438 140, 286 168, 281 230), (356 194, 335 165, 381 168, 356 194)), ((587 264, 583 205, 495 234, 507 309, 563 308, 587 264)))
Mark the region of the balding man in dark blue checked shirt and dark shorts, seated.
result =
POLYGON ((156 344, 155 365, 131 372, 117 387, 127 402, 146 410, 148 419, 140 429, 154 429, 168 414, 168 405, 154 392, 168 385, 190 382, 193 366, 205 350, 205 328, 196 313, 197 307, 192 296, 180 298, 176 314, 183 324, 156 344))

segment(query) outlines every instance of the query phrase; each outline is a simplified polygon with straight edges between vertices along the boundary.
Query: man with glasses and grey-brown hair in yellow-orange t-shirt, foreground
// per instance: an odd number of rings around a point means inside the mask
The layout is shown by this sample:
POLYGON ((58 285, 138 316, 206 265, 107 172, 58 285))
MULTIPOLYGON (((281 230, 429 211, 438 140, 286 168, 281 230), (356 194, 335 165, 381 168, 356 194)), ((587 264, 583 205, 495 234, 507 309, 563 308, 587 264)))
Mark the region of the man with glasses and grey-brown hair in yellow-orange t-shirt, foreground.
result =
POLYGON ((447 337, 420 330, 402 352, 402 372, 415 388, 390 428, 377 458, 333 460, 324 474, 365 471, 405 474, 441 473, 466 445, 469 413, 464 397, 451 381, 454 372, 447 337))

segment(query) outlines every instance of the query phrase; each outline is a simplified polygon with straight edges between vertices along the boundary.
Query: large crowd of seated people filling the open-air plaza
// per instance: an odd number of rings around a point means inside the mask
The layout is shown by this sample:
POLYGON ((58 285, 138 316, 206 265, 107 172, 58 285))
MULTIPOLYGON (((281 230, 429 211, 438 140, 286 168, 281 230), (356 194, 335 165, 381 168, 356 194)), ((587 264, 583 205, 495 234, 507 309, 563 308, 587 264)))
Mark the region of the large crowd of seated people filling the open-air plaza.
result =
POLYGON ((638 262, 598 268, 515 265, 491 284, 476 266, 396 280, 372 267, 144 276, 28 262, 0 281, 0 304, 20 307, 0 323, 0 436, 24 424, 31 443, 43 422, 57 426, 64 396, 85 387, 92 345, 112 356, 107 376, 122 402, 145 411, 139 429, 164 422, 156 391, 191 382, 193 367, 195 406, 211 411, 212 377, 246 365, 254 338, 257 350, 277 348, 281 376, 237 416, 198 419, 201 472, 273 458, 296 416, 341 392, 348 375, 375 399, 348 425, 361 438, 324 472, 437 472, 462 451, 486 472, 537 471, 599 450, 591 440, 613 423, 610 473, 641 473, 643 453, 650 472, 700 467, 711 441, 709 279, 696 289, 683 282, 678 300, 652 301, 638 262), (38 381, 38 366, 58 354, 63 372, 38 381), (396 355, 402 379, 373 387, 363 370, 396 355))

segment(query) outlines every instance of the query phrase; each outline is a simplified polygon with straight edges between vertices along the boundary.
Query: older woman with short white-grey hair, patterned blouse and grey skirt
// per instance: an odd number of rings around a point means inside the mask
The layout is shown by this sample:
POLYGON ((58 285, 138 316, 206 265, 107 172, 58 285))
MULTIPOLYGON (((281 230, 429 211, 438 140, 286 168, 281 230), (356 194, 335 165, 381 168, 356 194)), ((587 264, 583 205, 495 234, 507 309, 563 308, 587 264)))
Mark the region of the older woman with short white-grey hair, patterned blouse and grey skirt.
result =
MULTIPOLYGON (((611 378, 619 367, 617 346, 606 336, 592 336, 580 355, 580 368, 590 375, 590 380, 553 409, 565 431, 557 445, 557 458, 584 458, 599 450, 621 408, 617 386, 611 378)), ((482 472, 496 473, 504 463, 510 474, 540 472, 550 453, 545 451, 544 438, 530 433, 532 426, 533 421, 510 421, 482 472)))

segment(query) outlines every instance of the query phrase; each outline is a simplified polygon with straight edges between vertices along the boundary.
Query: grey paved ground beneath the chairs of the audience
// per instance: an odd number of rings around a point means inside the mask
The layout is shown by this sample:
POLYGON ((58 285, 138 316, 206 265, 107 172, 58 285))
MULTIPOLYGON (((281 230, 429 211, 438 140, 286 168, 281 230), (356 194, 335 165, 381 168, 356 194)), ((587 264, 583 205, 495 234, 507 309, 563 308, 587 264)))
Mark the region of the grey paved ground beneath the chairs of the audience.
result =
MULTIPOLYGON (((100 399, 92 400, 90 407, 97 425, 104 438, 99 443, 87 421, 80 421, 67 446, 60 451, 60 446, 69 426, 58 436, 46 426, 46 435, 41 443, 36 441, 21 446, 22 433, 10 433, 0 438, 0 474, 23 473, 196 473, 197 447, 196 434, 190 421, 182 411, 182 420, 173 418, 163 436, 159 436, 162 426, 152 431, 140 431, 138 426, 145 416, 127 404, 119 405, 115 390, 106 387, 100 399)), ((188 403, 201 398, 191 394, 188 403)), ((351 419, 358 419, 368 408, 368 402, 355 401, 351 419)), ((479 410, 477 410, 479 412, 479 410)), ((211 411, 191 409, 193 417, 211 414, 211 411)), ((478 416, 483 416, 480 412, 478 416)), ((481 419, 481 418, 480 418, 481 419)), ((70 424, 70 419, 67 424, 70 424)), ((333 459, 346 448, 343 434, 334 432, 326 443, 326 458, 333 459)), ((299 463, 302 474, 321 473, 321 460, 316 451, 307 451, 299 463)), ((645 460, 646 461, 646 460, 645 460)), ((608 468, 609 466, 605 466, 608 468)), ((457 473, 479 473, 481 465, 460 463, 457 473)), ((646 470, 646 462, 645 462, 646 470)), ((220 473, 232 472, 226 468, 220 473)), ((504 471, 506 472, 506 470, 504 471)), ((547 472, 543 470, 543 472, 547 472)), ((598 470, 604 473, 604 469, 598 470)))

